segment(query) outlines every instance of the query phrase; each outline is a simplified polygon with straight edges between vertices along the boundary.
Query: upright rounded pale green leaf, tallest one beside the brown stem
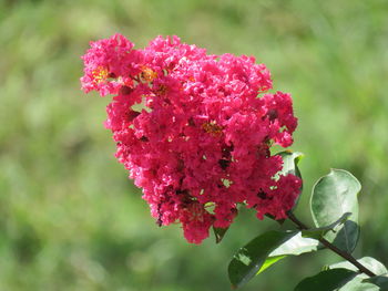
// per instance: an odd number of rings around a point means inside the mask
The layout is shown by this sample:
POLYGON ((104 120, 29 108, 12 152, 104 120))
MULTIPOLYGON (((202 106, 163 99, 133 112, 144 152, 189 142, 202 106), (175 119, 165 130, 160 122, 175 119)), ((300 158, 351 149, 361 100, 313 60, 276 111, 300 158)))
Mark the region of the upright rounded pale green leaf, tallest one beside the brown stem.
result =
POLYGON ((348 172, 331 169, 313 188, 310 210, 316 227, 333 224, 346 212, 351 216, 344 225, 325 235, 325 239, 349 253, 356 248, 359 237, 357 194, 361 186, 348 172))

